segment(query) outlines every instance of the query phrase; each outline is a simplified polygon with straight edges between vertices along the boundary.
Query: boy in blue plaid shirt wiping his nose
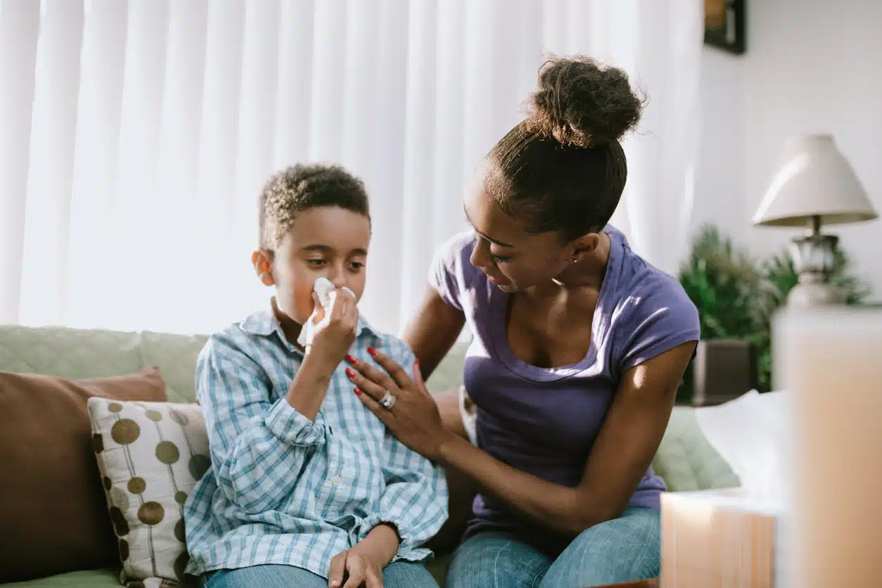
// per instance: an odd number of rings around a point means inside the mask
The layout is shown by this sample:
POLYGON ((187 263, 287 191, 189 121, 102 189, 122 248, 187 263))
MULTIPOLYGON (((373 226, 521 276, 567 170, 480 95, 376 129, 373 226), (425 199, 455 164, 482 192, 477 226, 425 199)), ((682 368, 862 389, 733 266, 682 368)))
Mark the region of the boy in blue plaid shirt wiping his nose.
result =
POLYGON ((185 505, 188 572, 210 588, 437 586, 419 546, 447 517, 444 475, 386 433, 346 375, 344 359, 369 348, 411 371, 415 361, 358 313, 363 182, 340 167, 289 167, 266 184, 259 223, 251 261, 275 289, 272 309, 213 335, 198 358, 212 468, 185 505), (319 277, 336 288, 326 317, 319 277))

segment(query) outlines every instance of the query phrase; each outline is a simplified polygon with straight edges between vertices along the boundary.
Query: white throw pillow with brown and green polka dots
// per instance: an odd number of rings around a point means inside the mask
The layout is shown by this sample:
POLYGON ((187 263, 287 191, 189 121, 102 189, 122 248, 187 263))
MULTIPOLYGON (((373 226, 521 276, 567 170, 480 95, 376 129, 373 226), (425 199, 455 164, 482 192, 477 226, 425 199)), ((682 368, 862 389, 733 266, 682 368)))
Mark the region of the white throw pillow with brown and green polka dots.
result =
POLYGON ((93 448, 129 588, 185 582, 183 503, 211 465, 198 405, 90 398, 93 448))

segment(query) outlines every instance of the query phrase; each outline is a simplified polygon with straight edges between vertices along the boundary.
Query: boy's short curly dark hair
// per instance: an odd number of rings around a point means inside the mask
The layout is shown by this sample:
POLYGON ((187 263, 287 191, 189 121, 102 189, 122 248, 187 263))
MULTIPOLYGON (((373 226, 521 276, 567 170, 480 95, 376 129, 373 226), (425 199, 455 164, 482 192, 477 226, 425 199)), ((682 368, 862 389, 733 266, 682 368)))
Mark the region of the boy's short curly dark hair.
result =
POLYGON ((260 247, 273 250, 294 225, 298 212, 317 206, 339 206, 370 220, 364 182, 340 166, 303 164, 273 175, 260 192, 260 247))

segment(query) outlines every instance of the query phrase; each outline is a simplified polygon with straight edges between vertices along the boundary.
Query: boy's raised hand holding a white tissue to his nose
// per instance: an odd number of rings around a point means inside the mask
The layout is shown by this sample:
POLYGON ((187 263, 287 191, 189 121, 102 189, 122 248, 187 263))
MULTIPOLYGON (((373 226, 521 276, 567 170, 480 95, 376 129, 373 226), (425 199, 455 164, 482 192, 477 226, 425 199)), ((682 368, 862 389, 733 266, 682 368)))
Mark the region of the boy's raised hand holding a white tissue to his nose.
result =
POLYGON ((303 324, 297 342, 313 361, 331 371, 349 353, 358 330, 358 301, 348 287, 335 288, 329 279, 319 278, 313 287, 315 308, 303 324))

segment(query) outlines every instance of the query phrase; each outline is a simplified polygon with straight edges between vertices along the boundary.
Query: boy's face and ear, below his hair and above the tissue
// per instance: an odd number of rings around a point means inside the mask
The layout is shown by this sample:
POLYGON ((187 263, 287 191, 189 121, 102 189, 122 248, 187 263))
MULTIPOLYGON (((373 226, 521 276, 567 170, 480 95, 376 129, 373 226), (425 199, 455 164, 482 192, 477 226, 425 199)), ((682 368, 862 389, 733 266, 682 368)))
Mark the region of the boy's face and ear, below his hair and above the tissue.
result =
POLYGON ((272 255, 260 249, 251 261, 263 284, 275 286, 279 309, 303 324, 312 314, 312 285, 318 278, 348 287, 361 300, 369 243, 366 216, 339 206, 318 206, 297 214, 272 255))

